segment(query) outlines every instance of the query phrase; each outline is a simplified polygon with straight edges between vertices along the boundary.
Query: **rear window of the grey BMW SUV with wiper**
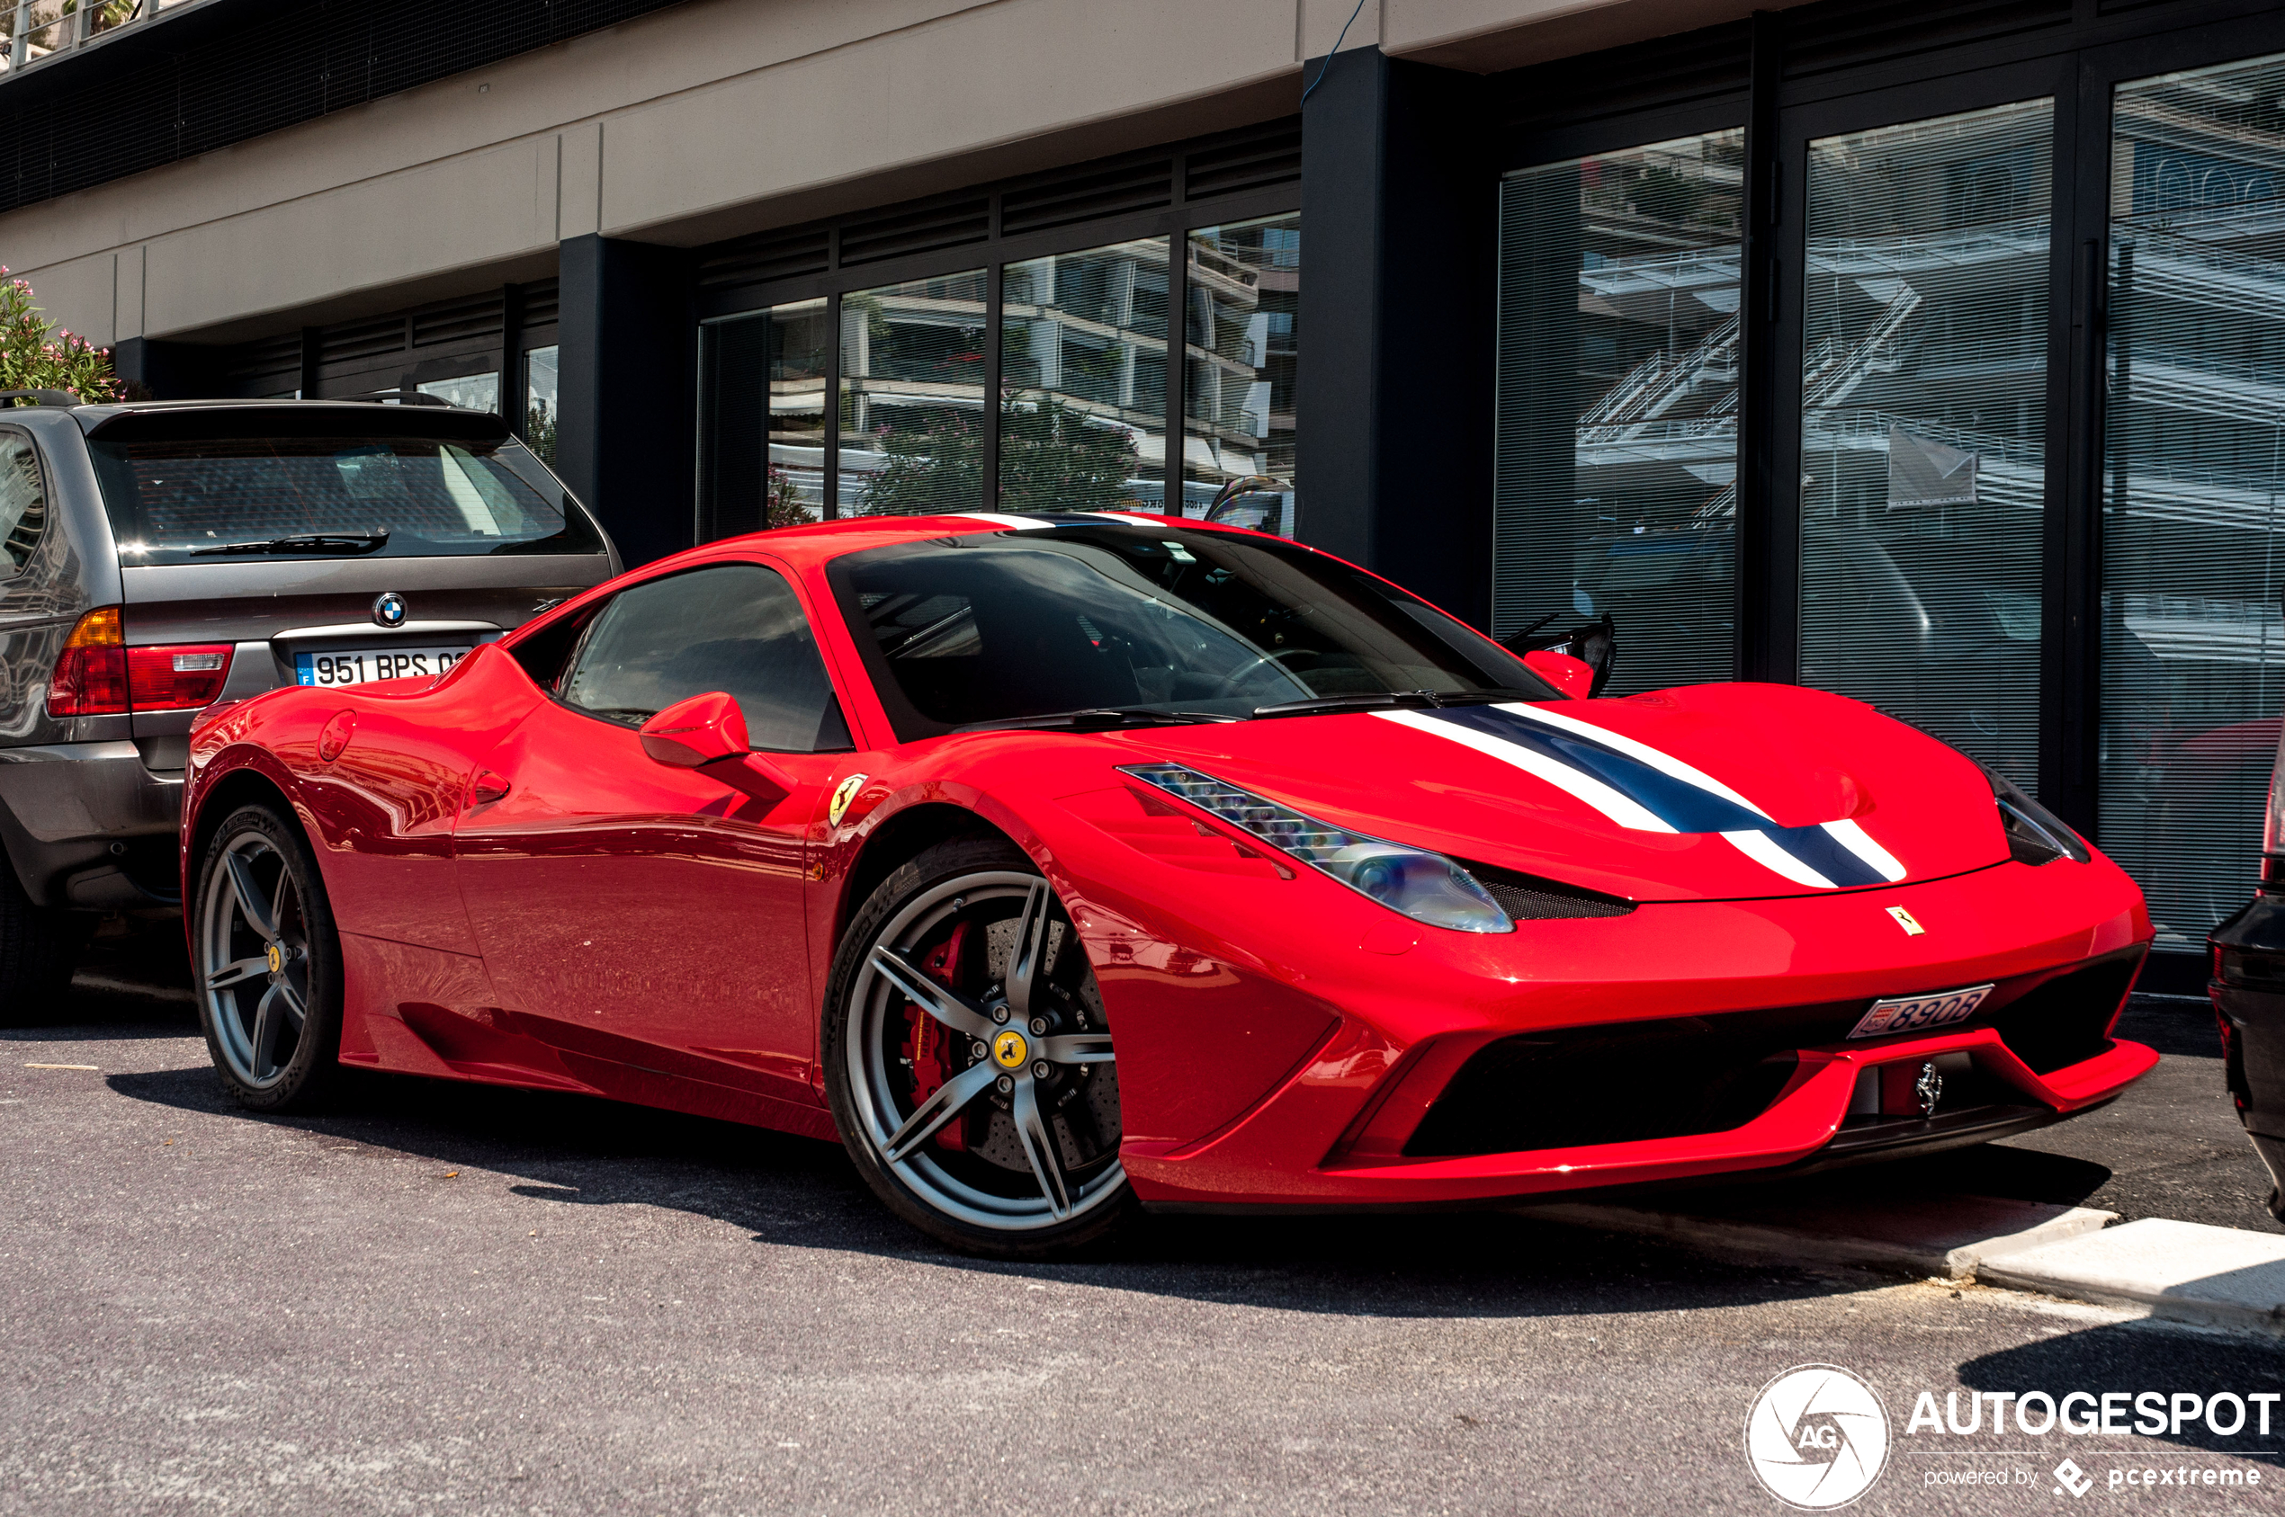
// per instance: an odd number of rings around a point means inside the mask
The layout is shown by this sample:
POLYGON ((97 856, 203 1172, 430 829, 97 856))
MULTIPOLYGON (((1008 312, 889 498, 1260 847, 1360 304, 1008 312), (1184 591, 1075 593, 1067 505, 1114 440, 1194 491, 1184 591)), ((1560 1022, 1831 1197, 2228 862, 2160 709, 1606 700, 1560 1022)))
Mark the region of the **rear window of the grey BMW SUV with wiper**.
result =
POLYGON ((105 423, 87 448, 121 562, 603 551, 578 503, 496 420, 363 411, 105 423))

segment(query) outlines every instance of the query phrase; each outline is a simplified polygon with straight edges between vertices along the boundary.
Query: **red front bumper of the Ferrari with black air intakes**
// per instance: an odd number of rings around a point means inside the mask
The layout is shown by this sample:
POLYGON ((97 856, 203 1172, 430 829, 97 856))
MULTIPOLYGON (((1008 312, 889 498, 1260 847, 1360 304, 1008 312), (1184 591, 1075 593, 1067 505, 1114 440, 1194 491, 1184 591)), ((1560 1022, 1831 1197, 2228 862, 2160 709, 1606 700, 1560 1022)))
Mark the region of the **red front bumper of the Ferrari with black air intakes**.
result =
MULTIPOLYGON (((1385 971, 1346 985, 1314 976, 1332 1026, 1266 1099, 1202 1138, 1131 1135, 1122 1158, 1158 1209, 1451 1206, 1858 1163, 2056 1122, 2157 1062, 2109 1037, 2148 944, 2139 893, 2107 864, 2068 868, 2079 873, 2009 864, 1890 891, 1531 923, 1536 973, 1513 969, 1522 932, 1506 948, 1426 934, 1385 971), (1910 905, 1949 941, 1906 937, 1887 905, 1910 905), (1510 969, 1488 976, 1499 953, 1510 969), (1876 998, 1981 982, 1997 989, 1958 1028, 1849 1040, 1876 998), (1668 1028, 1677 1049, 1659 1046, 1668 1028), (1659 1110, 1625 1110, 1689 1106, 1691 1060, 1709 1046, 1723 1056, 1698 1083, 1723 1090, 1705 1113, 1661 1126, 1659 1110), (1506 1113, 1492 1078, 1478 1092, 1490 1117, 1440 1124, 1499 1049, 1520 1049, 1520 1069, 1547 1049, 1574 1060, 1513 1087, 1506 1113), (1910 1094, 1929 1065, 1956 1092, 1933 1115, 1910 1094), (1533 1119, 1579 1078, 1602 1081, 1615 1119, 1584 1097, 1561 1119, 1533 1119)), ((1113 1014, 1124 1092, 1136 1017, 1117 1003, 1113 1014)))

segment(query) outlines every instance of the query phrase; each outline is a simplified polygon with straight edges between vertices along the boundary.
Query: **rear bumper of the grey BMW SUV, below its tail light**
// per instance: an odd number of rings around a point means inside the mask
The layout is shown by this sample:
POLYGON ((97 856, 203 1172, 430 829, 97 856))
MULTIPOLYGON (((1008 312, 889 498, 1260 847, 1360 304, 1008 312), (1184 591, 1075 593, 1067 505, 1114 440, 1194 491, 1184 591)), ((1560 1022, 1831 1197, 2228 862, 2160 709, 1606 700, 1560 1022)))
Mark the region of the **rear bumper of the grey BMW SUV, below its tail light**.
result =
POLYGON ((176 905, 181 816, 183 774, 133 740, 0 747, 0 843, 34 905, 176 905))

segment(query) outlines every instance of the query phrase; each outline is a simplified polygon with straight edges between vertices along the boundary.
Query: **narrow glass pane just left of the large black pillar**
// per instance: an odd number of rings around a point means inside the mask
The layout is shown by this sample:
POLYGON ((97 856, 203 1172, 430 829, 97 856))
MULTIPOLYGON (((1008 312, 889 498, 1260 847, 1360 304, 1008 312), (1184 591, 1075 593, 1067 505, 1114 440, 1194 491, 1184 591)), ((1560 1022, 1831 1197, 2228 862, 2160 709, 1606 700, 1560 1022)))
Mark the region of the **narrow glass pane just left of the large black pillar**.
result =
POLYGON ((1186 256, 1181 503, 1197 516, 1232 480, 1296 482, 1300 215, 1200 226, 1186 256))

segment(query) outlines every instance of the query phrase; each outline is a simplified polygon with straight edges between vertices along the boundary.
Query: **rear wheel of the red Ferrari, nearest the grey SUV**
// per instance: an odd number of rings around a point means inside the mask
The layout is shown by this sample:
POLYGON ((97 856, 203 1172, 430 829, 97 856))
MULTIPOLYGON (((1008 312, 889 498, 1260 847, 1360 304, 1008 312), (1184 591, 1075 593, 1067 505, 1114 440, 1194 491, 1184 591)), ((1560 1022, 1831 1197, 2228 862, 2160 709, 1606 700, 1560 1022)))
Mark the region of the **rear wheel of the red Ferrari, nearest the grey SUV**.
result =
POLYGON ((190 905, 199 1026, 224 1090, 249 1110, 322 1106, 340 1076, 340 937, 302 829, 272 806, 233 811, 190 905))

